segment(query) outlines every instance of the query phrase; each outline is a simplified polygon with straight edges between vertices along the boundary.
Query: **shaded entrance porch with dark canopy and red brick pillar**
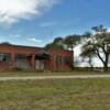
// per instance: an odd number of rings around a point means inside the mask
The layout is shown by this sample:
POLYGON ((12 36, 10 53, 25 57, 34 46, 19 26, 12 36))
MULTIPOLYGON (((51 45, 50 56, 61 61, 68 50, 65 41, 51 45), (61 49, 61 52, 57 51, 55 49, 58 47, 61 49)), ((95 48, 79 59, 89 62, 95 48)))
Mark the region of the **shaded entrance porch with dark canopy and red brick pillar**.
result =
MULTIPOLYGON (((48 69, 51 54, 42 51, 36 54, 14 54, 13 67, 24 70, 44 70, 48 69)), ((12 68, 13 68, 12 67, 12 68)))

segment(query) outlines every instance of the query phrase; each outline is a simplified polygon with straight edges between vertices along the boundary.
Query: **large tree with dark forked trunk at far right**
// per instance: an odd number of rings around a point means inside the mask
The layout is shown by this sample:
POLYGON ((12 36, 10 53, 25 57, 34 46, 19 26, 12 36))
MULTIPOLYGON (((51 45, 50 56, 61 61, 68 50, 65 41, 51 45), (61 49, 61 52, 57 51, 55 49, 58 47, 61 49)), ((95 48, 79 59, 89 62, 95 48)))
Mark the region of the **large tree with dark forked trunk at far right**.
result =
POLYGON ((106 28, 103 28, 103 25, 94 26, 92 31, 95 31, 95 34, 87 38, 87 46, 85 50, 87 51, 87 48, 89 48, 90 54, 94 53, 97 55, 103 64, 103 70, 108 70, 110 57, 110 33, 106 28))

